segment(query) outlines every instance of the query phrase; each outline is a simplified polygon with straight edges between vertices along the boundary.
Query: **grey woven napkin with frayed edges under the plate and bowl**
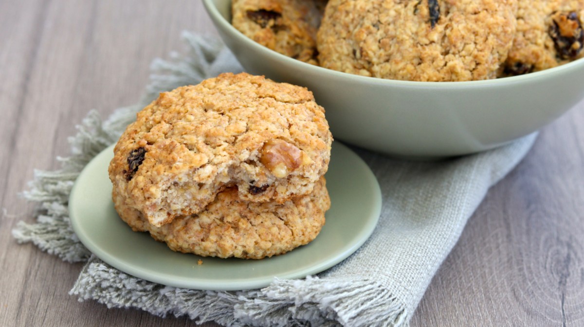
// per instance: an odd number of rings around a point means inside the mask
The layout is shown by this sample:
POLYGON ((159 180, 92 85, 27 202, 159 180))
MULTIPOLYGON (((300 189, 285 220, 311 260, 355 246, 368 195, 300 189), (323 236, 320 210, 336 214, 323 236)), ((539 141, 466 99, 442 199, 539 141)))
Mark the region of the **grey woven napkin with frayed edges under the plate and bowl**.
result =
POLYGON ((20 222, 13 235, 65 261, 87 261, 71 290, 80 301, 139 308, 162 317, 188 315, 199 323, 225 326, 407 326, 468 217, 536 138, 530 135, 499 149, 432 163, 357 150, 381 185, 380 221, 363 247, 317 276, 274 280, 265 289, 247 291, 187 290, 147 282, 100 261, 79 242, 69 224, 67 199, 85 164, 116 142, 135 112, 158 92, 242 71, 219 41, 190 33, 183 37, 189 53, 153 62, 144 100, 120 108, 105 122, 91 111, 70 139, 72 153, 60 159, 61 170, 36 171, 30 191, 24 193, 40 202, 40 215, 34 224, 20 222))

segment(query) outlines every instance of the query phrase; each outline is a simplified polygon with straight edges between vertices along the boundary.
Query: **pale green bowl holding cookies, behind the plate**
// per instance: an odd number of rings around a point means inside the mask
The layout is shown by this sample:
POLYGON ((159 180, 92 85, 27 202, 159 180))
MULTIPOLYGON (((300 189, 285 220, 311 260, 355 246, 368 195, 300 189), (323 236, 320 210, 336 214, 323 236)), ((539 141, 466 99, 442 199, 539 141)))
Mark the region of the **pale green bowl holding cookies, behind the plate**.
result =
POLYGON ((584 59, 512 78, 408 82, 336 72, 288 58, 231 26, 230 0, 204 0, 245 71, 308 87, 335 139, 407 157, 479 152, 537 131, 584 97, 584 59))

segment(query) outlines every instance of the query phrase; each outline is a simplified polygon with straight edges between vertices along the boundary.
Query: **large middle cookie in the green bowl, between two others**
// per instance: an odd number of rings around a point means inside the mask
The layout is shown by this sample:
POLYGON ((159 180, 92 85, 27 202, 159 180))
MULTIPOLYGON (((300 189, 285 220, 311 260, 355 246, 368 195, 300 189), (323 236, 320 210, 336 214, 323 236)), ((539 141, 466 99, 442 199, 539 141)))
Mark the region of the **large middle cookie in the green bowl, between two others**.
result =
POLYGON ((321 66, 416 81, 496 77, 515 35, 517 0, 331 0, 321 66))

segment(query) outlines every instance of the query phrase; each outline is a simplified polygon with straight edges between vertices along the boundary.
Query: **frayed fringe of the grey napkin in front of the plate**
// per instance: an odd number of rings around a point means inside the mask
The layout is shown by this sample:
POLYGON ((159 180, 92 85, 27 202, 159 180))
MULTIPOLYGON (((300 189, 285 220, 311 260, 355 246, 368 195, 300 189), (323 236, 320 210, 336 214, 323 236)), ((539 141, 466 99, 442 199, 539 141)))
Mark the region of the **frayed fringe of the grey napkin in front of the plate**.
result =
POLYGON ((158 317, 187 315, 197 324, 238 326, 405 327, 404 303, 373 280, 280 280, 261 290, 197 291, 147 282, 92 255, 69 294, 108 308, 138 308, 158 317))

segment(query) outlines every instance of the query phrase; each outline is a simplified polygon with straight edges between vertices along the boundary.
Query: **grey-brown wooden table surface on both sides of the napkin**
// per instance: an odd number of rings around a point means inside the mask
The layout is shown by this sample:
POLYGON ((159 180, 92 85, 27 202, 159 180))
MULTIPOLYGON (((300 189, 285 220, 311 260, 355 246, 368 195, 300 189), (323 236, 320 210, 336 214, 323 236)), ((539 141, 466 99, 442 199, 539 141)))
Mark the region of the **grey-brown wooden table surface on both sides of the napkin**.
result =
MULTIPOLYGON (((34 221, 18 195, 33 170, 60 167, 92 108, 137 102, 151 60, 185 50, 182 30, 216 34, 198 0, 0 1, 0 326, 196 326, 79 303, 68 291, 81 263, 11 236, 34 221)), ((542 129, 468 221, 412 326, 584 326, 583 127, 584 102, 542 129)))

